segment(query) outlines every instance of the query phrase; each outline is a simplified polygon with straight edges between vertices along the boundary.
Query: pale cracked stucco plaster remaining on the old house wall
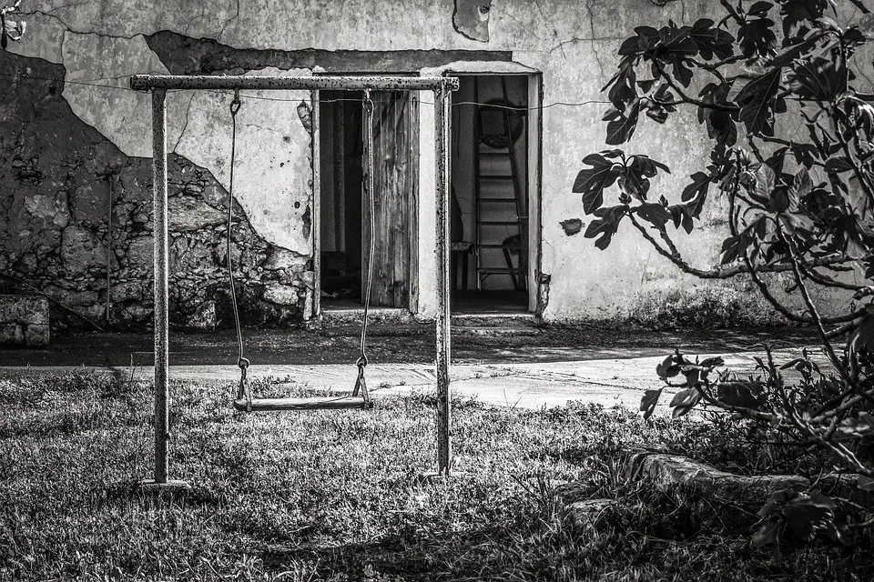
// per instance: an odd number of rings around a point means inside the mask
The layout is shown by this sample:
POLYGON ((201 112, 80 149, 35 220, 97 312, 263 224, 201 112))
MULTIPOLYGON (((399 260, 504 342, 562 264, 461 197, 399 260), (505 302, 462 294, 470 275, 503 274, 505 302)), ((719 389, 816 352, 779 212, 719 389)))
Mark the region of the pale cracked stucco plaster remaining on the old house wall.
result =
MULTIPOLYGON (((384 54, 371 51, 426 51, 400 54, 401 62, 407 61, 405 71, 440 70, 453 60, 483 60, 482 54, 471 59, 452 51, 508 54, 515 63, 543 73, 544 103, 584 104, 543 111, 541 270, 551 276, 544 319, 623 319, 657 310, 660 298, 676 295, 677 289, 695 296, 703 286, 656 256, 627 227, 602 252, 582 236, 566 236, 559 223, 583 217, 579 196, 571 188, 582 158, 605 148, 601 116, 606 105, 600 88, 615 68, 618 45, 636 25, 669 18, 690 23, 711 15, 714 5, 713 0, 178 0, 167 5, 25 0, 27 35, 10 50, 33 58, 22 63, 25 75, 28 66, 62 66, 56 75, 68 83, 60 97, 88 131, 102 135, 107 147, 132 160, 150 155, 148 95, 93 85, 127 87, 127 75, 136 73, 309 75, 315 67, 392 69, 384 54)), ((292 269, 296 275, 287 283, 298 285, 308 276, 311 284, 306 258, 312 253, 312 160, 310 135, 297 108, 307 96, 279 96, 286 101, 249 98, 239 127, 239 204, 265 249, 285 249, 297 257, 292 269)), ((4 92, 0 105, 8 107, 10 99, 20 98, 15 90, 4 92)), ((433 273, 433 221, 426 216, 433 207, 427 189, 433 180, 429 101, 422 95, 418 305, 424 315, 434 307, 428 283, 433 273)), ((206 92, 171 94, 168 102, 171 151, 202 168, 219 187, 228 186, 228 105, 229 95, 206 92)), ((26 134, 36 126, 22 125, 22 130, 26 134)), ((660 176, 653 192, 672 198, 686 176, 704 165, 708 143, 691 115, 677 115, 664 127, 646 124, 627 149, 671 166, 672 175, 660 176)), ((11 156, 5 151, 2 156, 0 162, 10 165, 11 156)), ((39 186, 46 204, 60 204, 52 194, 59 187, 39 186)), ((694 239, 681 238, 680 245, 690 262, 711 266, 718 260, 717 241, 725 226, 716 212, 703 222, 706 227, 694 239)), ((751 298, 754 294, 744 292, 744 285, 735 284, 732 301, 743 304, 752 316, 760 313, 762 320, 769 319, 751 298)), ((843 304, 839 296, 824 299, 832 307, 843 304)), ((302 302, 294 306, 305 309, 302 302)))

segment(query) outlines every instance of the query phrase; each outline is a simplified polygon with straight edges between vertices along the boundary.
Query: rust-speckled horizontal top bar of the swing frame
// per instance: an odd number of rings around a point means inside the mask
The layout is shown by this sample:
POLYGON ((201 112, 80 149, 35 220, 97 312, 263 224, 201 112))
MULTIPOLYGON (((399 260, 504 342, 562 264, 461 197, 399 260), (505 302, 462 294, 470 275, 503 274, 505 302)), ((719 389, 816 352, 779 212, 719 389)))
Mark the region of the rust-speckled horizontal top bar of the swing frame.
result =
POLYGON ((347 91, 436 91, 458 89, 452 76, 243 76, 131 75, 130 88, 151 89, 332 89, 347 91))

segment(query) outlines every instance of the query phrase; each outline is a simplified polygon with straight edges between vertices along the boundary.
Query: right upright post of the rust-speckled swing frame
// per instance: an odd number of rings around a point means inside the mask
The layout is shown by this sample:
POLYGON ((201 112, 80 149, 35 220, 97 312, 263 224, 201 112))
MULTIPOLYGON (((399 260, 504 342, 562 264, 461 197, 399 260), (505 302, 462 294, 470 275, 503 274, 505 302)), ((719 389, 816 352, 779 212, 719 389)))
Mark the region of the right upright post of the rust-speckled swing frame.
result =
POLYGON ((450 274, 449 248, 451 241, 450 209, 450 122, 452 92, 443 85, 434 91, 435 158, 437 166, 437 470, 449 475, 452 464, 450 442, 450 274))

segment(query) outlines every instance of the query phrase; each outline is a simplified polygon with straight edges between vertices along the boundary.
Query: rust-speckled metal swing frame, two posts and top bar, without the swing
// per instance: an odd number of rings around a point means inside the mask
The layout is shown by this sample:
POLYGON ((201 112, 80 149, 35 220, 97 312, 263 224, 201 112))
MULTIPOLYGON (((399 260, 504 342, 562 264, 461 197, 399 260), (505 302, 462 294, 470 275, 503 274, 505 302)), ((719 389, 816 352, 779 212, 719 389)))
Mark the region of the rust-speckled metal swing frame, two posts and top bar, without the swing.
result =
MULTIPOLYGON (((437 340, 437 469, 448 475, 452 464, 450 438, 450 181, 452 91, 457 77, 411 76, 217 76, 217 75, 132 75, 130 86, 152 95, 152 179, 155 279, 155 467, 144 487, 185 489, 188 483, 169 478, 169 316, 168 316, 168 90, 345 90, 345 91, 432 91, 434 94, 434 153, 436 191, 436 246, 438 310, 435 317, 437 340)), ((324 407, 324 406, 320 406, 324 407)))

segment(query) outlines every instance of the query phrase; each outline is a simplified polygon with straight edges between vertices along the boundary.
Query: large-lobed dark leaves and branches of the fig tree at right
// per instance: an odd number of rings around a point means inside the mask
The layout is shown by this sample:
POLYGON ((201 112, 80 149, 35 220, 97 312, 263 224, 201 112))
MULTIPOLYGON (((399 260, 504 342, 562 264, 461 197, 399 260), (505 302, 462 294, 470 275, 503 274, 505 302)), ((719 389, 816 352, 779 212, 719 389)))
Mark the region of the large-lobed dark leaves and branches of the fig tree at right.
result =
MULTIPOLYGON (((721 358, 677 352, 657 373, 682 388, 675 416, 705 405, 746 418, 759 439, 823 450, 828 470, 856 474, 874 492, 874 94, 864 71, 874 15, 859 0, 720 5, 718 22, 637 27, 605 87, 608 144, 630 140, 645 117, 663 124, 690 108, 712 140, 709 164, 672 204, 650 191, 666 165, 621 149, 586 156, 574 185, 595 216, 585 236, 605 249, 630 223, 684 272, 748 276, 782 316, 816 326, 827 366, 807 354, 782 365, 768 355, 757 376, 741 378, 721 358), (607 206, 614 185, 618 204, 607 206), (714 268, 689 264, 669 232, 692 233, 706 208, 728 226, 714 268), (775 274, 791 277, 800 308, 780 298, 775 274), (846 293, 847 310, 823 315, 823 289, 846 293)), ((645 416, 661 392, 646 394, 645 416)), ((845 543, 851 527, 871 524, 869 509, 816 490, 784 492, 762 509, 754 541, 778 543, 794 530, 845 543)))

